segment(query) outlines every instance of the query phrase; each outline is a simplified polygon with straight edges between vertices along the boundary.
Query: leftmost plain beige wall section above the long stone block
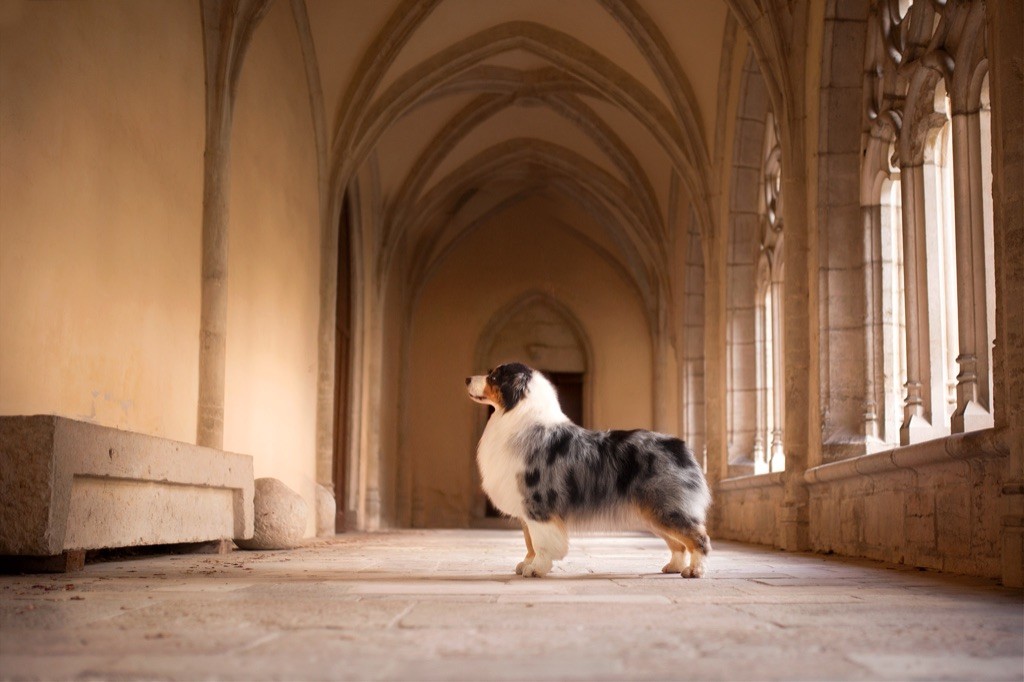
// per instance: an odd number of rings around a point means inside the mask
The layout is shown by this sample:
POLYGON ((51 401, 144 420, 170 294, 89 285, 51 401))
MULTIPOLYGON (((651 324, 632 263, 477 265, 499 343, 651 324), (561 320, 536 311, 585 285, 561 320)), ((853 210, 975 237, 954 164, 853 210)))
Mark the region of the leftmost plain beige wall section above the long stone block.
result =
POLYGON ((199 9, 8 4, 0 28, 0 414, 196 437, 199 9))

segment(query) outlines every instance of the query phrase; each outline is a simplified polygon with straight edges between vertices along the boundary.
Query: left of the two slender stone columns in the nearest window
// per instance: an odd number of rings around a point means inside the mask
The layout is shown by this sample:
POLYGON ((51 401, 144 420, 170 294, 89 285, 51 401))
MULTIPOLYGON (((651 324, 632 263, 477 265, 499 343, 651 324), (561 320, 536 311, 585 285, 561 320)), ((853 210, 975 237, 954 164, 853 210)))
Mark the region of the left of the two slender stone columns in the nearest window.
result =
POLYGON ((900 444, 931 433, 932 377, 928 310, 924 167, 900 169, 903 204, 903 282, 906 305, 906 398, 900 444))

